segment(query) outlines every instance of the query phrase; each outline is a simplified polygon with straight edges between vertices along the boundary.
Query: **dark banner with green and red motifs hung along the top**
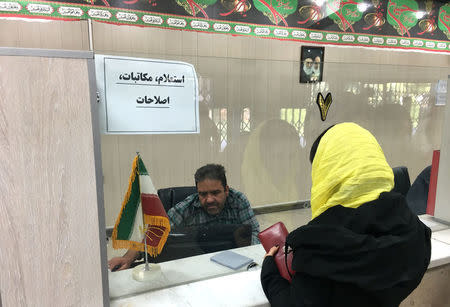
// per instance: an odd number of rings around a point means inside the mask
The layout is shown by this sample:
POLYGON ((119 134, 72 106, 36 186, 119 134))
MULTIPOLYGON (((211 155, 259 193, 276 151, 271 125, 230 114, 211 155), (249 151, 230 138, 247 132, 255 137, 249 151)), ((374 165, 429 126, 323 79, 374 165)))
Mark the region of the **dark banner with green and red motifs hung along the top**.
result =
POLYGON ((450 52, 447 0, 0 0, 0 16, 450 52))

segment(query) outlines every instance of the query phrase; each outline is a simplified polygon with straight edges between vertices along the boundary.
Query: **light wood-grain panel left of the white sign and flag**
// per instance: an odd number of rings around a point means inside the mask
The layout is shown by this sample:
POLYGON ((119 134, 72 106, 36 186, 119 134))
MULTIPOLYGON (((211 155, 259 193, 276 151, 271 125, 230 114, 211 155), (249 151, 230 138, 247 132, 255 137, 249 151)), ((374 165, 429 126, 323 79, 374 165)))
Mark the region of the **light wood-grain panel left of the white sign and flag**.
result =
POLYGON ((0 57, 4 306, 103 305, 86 60, 0 57))

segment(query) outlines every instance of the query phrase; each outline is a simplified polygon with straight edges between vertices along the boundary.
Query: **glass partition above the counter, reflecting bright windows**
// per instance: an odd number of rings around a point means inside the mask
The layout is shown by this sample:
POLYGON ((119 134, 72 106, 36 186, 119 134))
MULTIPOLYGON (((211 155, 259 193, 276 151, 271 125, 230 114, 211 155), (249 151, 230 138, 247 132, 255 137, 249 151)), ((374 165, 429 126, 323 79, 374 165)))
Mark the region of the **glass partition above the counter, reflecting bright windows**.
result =
MULTIPOLYGON (((261 230, 280 220, 293 230, 310 220, 310 210, 282 211, 283 204, 307 204, 310 146, 328 126, 353 121, 370 130, 391 167, 408 168, 411 183, 439 149, 444 106, 438 84, 446 80, 447 68, 325 61, 323 82, 301 84, 297 61, 173 58, 196 67, 201 132, 102 136, 108 226, 120 211, 136 151, 157 189, 194 186, 199 167, 222 164, 229 186, 244 193, 255 209, 261 230), (332 95, 325 121, 316 104, 318 93, 332 95), (270 204, 279 204, 280 212, 258 214, 259 207, 270 204)), ((108 248, 108 258, 124 252, 108 248)))

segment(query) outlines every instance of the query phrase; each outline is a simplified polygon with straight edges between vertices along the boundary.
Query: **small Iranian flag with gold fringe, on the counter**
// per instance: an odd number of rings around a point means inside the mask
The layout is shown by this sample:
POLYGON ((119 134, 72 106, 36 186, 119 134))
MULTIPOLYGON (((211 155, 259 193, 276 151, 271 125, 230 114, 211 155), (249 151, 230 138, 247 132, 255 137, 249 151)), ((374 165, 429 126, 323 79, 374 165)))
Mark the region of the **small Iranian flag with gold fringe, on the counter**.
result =
POLYGON ((142 224, 147 225, 147 252, 156 257, 167 241, 170 222, 144 162, 137 155, 133 160, 128 191, 112 233, 113 248, 144 251, 144 240, 140 241, 142 235, 139 234, 139 227, 136 227, 142 224))

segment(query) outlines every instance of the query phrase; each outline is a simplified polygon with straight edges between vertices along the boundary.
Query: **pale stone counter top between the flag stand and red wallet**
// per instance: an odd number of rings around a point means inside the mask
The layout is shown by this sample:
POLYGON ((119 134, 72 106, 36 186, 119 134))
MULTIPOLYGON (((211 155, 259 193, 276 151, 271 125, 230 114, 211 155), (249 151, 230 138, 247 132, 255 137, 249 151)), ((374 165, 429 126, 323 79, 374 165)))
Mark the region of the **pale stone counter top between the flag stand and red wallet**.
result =
MULTIPOLYGON (((265 255, 264 248, 261 244, 240 247, 233 249, 233 251, 252 258, 259 266, 261 266, 265 255)), ((123 296, 173 287, 238 272, 211 261, 211 256, 215 254, 217 253, 203 254, 159 263, 161 266, 161 276, 147 282, 138 282, 134 280, 131 269, 109 272, 109 296, 111 300, 113 300, 123 296)), ((243 267, 239 271, 245 271, 246 269, 246 267, 243 267)))

